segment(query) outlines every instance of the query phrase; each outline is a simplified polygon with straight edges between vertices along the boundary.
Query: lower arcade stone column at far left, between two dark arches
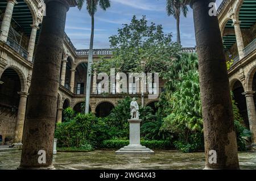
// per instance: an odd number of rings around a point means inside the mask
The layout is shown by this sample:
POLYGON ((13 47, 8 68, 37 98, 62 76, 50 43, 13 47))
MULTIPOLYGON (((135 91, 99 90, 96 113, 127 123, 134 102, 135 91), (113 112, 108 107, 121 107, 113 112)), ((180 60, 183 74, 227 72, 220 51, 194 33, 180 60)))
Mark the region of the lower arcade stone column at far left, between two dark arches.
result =
POLYGON ((14 143, 22 142, 23 127, 24 127, 26 105, 27 105, 27 96, 28 96, 27 92, 18 92, 18 94, 19 94, 19 108, 18 108, 18 115, 17 115, 17 121, 16 121, 14 143))

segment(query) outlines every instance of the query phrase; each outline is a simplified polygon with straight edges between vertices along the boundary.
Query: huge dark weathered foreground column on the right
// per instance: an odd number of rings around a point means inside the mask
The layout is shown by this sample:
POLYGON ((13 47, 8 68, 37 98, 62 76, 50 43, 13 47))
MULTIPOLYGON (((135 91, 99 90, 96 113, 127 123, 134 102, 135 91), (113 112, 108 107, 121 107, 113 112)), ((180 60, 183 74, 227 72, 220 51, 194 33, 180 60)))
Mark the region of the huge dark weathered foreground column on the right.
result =
POLYGON ((217 16, 210 2, 193 0, 201 101, 204 120, 205 169, 239 169, 228 71, 217 16))

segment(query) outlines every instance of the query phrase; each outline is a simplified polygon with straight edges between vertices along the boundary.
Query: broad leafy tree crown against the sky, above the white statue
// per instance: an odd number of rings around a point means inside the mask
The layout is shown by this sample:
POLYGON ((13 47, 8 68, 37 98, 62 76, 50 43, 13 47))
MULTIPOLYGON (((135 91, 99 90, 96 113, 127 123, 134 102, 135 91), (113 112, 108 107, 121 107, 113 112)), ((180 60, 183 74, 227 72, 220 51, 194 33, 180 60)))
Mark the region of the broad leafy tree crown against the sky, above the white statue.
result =
POLYGON ((113 58, 102 58, 94 64, 98 72, 110 73, 110 68, 115 68, 124 73, 163 73, 171 66, 171 57, 180 52, 179 45, 172 43, 171 33, 165 35, 163 27, 149 24, 146 16, 141 19, 133 16, 130 24, 123 24, 117 35, 109 39, 113 58))

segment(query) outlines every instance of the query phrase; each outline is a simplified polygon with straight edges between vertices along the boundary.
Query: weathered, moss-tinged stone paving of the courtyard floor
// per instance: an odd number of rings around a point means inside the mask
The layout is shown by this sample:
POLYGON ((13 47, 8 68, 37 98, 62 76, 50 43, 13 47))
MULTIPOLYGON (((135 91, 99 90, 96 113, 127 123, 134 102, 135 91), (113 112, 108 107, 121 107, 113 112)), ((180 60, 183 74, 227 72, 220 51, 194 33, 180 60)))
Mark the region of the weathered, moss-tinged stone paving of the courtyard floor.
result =
MULTIPOLYGON (((0 151, 0 169, 16 169, 20 150, 0 151)), ((256 170, 256 153, 239 153, 241 169, 256 170)), ((56 169, 204 169, 204 153, 183 154, 155 151, 154 155, 116 155, 114 151, 88 153, 59 152, 54 155, 56 169)))

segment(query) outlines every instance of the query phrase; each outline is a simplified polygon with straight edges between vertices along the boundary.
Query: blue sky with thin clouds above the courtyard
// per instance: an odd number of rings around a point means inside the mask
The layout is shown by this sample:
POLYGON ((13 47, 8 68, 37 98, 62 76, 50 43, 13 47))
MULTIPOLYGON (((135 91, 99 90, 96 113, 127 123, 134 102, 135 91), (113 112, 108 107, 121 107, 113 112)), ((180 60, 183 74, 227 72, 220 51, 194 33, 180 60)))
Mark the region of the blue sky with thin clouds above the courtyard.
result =
MULTIPOLYGON (((176 41, 176 20, 167 16, 166 0, 110 0, 111 7, 103 11, 98 8, 95 15, 94 48, 109 48, 109 37, 117 34, 122 24, 129 23, 133 15, 141 18, 146 15, 148 22, 162 24, 165 33, 172 32, 176 41)), ((217 7, 222 0, 217 0, 217 7)), ((86 7, 81 11, 77 7, 69 9, 65 32, 77 49, 89 49, 90 16, 86 7)), ((181 17, 181 44, 183 47, 195 47, 195 31, 192 9, 187 18, 181 17)))

